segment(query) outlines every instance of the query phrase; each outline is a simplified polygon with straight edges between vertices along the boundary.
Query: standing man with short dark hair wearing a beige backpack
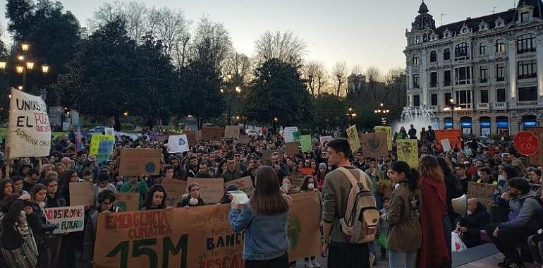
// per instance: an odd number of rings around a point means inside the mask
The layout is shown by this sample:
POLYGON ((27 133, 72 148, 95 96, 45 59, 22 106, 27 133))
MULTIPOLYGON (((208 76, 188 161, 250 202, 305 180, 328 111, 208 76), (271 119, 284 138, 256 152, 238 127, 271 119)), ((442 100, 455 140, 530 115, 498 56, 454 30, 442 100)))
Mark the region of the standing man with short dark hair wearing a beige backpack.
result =
POLYGON ((368 243, 375 238, 379 211, 366 173, 350 166, 345 139, 328 143, 329 164, 323 197, 324 245, 329 268, 370 267, 368 243))

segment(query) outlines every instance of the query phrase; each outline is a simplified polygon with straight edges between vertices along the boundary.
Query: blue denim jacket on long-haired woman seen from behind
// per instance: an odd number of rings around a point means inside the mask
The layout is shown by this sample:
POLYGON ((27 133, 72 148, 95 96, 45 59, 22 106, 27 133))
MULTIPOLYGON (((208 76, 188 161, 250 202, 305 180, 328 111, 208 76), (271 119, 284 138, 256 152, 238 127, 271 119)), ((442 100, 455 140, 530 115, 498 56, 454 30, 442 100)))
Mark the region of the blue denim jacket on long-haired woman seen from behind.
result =
POLYGON ((274 216, 253 214, 249 205, 230 210, 230 224, 236 233, 245 230, 243 260, 271 260, 288 251, 288 212, 274 216))

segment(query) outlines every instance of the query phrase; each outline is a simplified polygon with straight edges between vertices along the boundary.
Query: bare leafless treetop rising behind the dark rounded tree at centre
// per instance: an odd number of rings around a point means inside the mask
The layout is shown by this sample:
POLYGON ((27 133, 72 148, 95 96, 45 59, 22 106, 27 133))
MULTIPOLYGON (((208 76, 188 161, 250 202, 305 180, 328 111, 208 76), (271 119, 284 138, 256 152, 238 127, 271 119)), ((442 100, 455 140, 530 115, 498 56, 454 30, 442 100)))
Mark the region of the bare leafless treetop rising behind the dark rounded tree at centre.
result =
POLYGON ((258 62, 279 59, 298 66, 302 62, 305 48, 305 42, 291 31, 266 31, 255 41, 258 62))

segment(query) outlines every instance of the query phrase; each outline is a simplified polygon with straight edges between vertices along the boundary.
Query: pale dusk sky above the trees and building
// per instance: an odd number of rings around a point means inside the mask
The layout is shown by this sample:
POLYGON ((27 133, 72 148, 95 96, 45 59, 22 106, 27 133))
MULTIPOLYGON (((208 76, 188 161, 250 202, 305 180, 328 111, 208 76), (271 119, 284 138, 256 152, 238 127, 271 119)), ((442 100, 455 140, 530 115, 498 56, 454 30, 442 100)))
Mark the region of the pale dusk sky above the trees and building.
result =
MULTIPOLYGON (((63 0, 86 25, 106 0, 63 0)), ((466 17, 489 15, 513 8, 514 0, 426 0, 436 25, 466 17)), ((405 28, 410 28, 420 0, 147 0, 147 6, 168 6, 189 20, 201 16, 224 23, 233 47, 248 56, 265 30, 292 30, 307 43, 306 61, 322 61, 327 68, 343 61, 348 67, 377 66, 383 71, 405 67, 405 28)), ((0 0, 0 24, 6 28, 6 0, 0 0)), ((7 34, 7 32, 6 32, 7 34)), ((6 41, 6 39, 4 38, 6 41)))

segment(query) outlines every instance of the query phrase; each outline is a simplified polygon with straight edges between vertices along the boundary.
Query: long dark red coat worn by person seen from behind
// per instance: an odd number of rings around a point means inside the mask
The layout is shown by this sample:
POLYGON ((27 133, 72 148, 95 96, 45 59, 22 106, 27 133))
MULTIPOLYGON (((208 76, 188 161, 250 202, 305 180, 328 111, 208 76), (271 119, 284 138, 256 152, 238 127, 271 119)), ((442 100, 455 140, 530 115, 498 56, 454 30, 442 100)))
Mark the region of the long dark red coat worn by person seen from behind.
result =
POLYGON ((441 218, 447 215, 445 183, 422 177, 419 181, 419 189, 422 192, 423 201, 420 212, 422 247, 418 252, 417 267, 448 264, 450 252, 446 245, 441 221, 441 218))

